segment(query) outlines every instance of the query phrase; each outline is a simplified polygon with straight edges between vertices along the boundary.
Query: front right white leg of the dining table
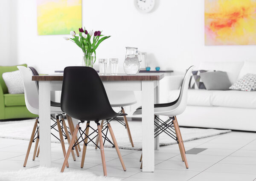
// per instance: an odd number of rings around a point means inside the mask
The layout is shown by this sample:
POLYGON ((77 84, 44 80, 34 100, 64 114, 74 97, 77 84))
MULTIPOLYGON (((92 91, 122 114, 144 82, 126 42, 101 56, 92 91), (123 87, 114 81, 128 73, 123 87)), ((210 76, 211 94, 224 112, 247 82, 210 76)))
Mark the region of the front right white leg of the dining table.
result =
POLYGON ((154 172, 154 81, 142 81, 143 172, 154 172))

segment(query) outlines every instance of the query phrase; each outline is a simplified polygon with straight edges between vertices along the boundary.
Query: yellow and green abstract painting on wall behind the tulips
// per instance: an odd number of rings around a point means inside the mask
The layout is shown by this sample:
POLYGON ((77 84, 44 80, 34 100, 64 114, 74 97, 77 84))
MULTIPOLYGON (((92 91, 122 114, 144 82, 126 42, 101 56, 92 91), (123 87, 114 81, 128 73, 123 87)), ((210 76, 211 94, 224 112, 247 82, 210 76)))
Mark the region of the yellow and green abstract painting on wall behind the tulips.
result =
POLYGON ((82 26, 81 0, 37 0, 38 35, 69 34, 82 26))

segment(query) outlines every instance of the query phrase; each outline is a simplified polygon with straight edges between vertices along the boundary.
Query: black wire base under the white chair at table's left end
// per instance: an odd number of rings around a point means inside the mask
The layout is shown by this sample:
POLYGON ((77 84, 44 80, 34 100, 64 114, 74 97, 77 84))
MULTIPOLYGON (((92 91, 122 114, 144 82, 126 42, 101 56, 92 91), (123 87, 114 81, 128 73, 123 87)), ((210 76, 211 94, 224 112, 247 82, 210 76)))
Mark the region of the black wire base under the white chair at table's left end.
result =
MULTIPOLYGON (((55 131, 57 131, 58 132, 58 129, 56 129, 55 128, 55 126, 57 126, 57 119, 59 119, 58 117, 61 117, 61 118, 63 118, 63 115, 57 115, 57 117, 56 118, 54 118, 52 115, 51 115, 51 120, 54 122, 54 124, 52 124, 52 126, 51 126, 51 129, 54 129, 55 131), (55 119, 55 120, 54 120, 55 119)), ((59 119, 59 121, 60 121, 60 123, 61 123, 61 132, 62 132, 62 135, 64 136, 64 139, 66 140, 67 139, 67 135, 65 134, 65 132, 63 131, 63 121, 61 120, 61 118, 59 119)), ((67 127, 68 129, 69 129, 69 127, 67 127)), ((34 135, 34 137, 33 137, 33 143, 35 142, 35 140, 38 138, 39 139, 39 121, 38 121, 38 124, 37 124, 37 126, 36 126, 36 132, 35 132, 35 135, 34 135)), ((70 132, 68 132, 69 134, 70 134, 70 132)), ((58 139, 58 141, 60 141, 61 142, 61 140, 57 137, 57 136, 55 136, 52 132, 51 132, 51 135, 53 135, 55 138, 57 138, 58 139)), ((71 135, 71 134, 70 134, 71 135)))

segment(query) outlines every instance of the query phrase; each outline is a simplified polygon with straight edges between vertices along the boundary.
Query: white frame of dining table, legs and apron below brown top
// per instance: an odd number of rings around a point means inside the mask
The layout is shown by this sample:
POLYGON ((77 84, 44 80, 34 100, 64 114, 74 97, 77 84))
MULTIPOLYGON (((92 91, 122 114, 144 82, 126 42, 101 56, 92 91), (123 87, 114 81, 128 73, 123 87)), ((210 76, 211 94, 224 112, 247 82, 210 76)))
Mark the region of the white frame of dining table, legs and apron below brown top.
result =
MULTIPOLYGON (((154 172, 154 103, 159 101, 159 80, 103 81, 107 91, 142 92, 143 172, 154 172)), ((60 91, 62 81, 39 81, 40 166, 51 166, 50 91, 60 91)), ((139 159, 139 158, 138 158, 139 159)))

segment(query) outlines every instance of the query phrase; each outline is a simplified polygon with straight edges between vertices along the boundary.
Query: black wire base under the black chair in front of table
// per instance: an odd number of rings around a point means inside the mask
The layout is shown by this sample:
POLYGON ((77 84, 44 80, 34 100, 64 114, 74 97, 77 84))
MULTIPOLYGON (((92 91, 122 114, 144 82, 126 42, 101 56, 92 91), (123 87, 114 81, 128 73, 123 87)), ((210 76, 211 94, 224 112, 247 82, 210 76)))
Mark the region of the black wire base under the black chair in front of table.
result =
MULTIPOLYGON (((79 122, 78 124, 80 123, 84 123, 84 122, 79 122)), ((99 132, 98 132, 98 129, 94 129, 92 126, 90 126, 90 121, 87 121, 87 126, 85 127, 84 130, 81 129, 81 127, 79 127, 79 138, 77 139, 77 141, 73 144, 73 147, 72 149, 74 149, 77 145, 79 145, 80 143, 84 143, 85 146, 87 146, 87 144, 89 144, 90 142, 92 142, 93 144, 96 145, 96 147, 98 147, 100 149, 100 147, 93 141, 94 138, 96 138, 98 135, 99 135, 99 132), (89 129, 92 129, 93 132, 91 132, 89 135, 87 135, 85 133, 86 129, 89 128, 89 129), (96 134, 94 134, 96 133, 96 134), (83 136, 84 135, 84 136, 83 136), (93 138, 90 138, 90 136, 92 136, 93 138), (81 139, 81 141, 79 141, 81 139), (87 143, 85 143, 85 139, 87 139, 87 143), (89 139, 89 141, 88 141, 89 139)), ((109 120, 106 121, 107 124, 109 124, 109 120)), ((96 122, 97 126, 99 126, 99 122, 96 122)), ((110 144, 112 144, 113 148, 115 147, 115 145, 112 143, 112 141, 107 137, 107 134, 108 134, 108 125, 102 127, 102 138, 104 138, 104 141, 103 141, 103 145, 105 144, 105 141, 108 141, 110 144), (104 131, 106 130, 106 133, 104 133, 104 131)))

